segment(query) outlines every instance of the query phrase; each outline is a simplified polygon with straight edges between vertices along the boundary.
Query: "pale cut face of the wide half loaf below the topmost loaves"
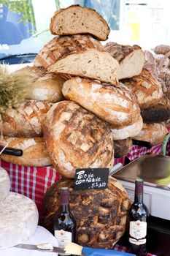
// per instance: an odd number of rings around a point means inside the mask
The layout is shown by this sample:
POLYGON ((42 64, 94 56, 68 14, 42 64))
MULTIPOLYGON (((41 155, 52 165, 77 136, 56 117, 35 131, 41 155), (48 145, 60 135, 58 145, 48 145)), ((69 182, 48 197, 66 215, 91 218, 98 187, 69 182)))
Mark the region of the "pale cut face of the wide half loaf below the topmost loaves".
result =
POLYGON ((93 78, 117 85, 120 72, 118 62, 104 51, 95 49, 70 53, 48 67, 49 72, 93 78))

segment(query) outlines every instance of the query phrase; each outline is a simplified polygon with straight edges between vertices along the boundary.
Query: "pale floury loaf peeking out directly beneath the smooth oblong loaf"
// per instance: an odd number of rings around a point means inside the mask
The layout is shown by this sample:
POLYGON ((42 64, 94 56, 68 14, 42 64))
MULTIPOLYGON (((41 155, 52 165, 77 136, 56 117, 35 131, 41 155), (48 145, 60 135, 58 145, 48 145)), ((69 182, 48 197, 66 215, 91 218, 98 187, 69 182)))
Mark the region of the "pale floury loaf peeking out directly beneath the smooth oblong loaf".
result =
POLYGON ((142 130, 142 116, 139 115, 138 120, 136 122, 125 127, 112 128, 112 125, 110 125, 109 127, 112 131, 113 140, 124 140, 126 138, 138 135, 139 132, 142 130))

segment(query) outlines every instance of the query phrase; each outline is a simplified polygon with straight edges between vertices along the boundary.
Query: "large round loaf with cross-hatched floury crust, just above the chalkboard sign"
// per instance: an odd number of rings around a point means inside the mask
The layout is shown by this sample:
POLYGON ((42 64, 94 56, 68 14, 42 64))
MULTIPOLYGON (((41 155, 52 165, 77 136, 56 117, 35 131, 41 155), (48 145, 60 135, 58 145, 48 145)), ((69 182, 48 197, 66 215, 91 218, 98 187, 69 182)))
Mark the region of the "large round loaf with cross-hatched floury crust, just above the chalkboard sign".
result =
POLYGON ((104 121, 74 102, 63 101, 47 112, 42 129, 53 166, 67 178, 82 167, 112 167, 112 132, 104 121))

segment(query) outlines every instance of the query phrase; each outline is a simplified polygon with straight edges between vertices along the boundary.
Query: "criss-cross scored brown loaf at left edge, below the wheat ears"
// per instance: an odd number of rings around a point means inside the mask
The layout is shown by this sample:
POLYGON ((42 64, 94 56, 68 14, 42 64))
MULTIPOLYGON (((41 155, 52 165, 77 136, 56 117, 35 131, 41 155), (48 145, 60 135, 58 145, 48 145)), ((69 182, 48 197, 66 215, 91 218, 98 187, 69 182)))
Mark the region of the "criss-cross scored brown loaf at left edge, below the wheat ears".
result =
POLYGON ((52 103, 28 100, 18 108, 8 108, 2 115, 2 132, 9 137, 42 136, 42 118, 52 103))

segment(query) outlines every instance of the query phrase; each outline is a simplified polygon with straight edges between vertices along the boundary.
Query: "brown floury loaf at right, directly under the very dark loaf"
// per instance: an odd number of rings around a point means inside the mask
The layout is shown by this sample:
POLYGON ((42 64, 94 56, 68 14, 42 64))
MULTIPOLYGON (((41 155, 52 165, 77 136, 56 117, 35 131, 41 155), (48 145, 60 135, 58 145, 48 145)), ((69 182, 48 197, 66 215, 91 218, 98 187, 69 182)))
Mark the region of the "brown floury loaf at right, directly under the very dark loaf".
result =
POLYGON ((169 131, 164 124, 144 124, 141 132, 133 137, 133 139, 148 141, 154 146, 158 143, 162 143, 163 138, 168 132, 169 131))

